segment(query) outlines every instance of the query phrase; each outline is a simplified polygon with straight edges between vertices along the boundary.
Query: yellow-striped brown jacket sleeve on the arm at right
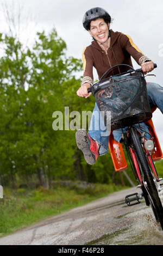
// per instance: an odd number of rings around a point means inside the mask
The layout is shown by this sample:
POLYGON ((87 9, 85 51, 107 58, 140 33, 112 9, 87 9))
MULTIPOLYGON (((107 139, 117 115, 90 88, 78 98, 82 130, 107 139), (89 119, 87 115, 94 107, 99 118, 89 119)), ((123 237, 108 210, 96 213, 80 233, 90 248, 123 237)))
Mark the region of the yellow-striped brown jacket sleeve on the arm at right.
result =
POLYGON ((139 50, 129 35, 122 34, 122 45, 124 49, 135 59, 137 64, 141 65, 142 63, 151 60, 139 50))

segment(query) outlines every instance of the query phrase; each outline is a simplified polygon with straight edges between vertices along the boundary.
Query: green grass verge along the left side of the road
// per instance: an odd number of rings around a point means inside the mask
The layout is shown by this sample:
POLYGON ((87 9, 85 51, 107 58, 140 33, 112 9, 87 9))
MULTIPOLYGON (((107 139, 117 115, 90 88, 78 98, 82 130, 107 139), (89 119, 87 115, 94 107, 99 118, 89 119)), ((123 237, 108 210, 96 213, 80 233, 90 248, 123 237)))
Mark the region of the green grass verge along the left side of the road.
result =
POLYGON ((49 190, 4 188, 4 198, 0 199, 0 237, 119 190, 121 186, 93 184, 81 188, 73 183, 66 187, 55 185, 49 190))

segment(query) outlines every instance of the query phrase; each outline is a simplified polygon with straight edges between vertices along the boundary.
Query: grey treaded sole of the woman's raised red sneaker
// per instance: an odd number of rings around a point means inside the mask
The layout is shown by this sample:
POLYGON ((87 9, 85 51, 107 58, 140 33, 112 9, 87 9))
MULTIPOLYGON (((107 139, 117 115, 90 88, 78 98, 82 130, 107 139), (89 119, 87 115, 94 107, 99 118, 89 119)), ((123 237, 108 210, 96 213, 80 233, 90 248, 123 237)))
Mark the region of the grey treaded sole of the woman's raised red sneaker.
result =
POLYGON ((78 130, 76 132, 76 143, 78 149, 82 150, 85 161, 91 165, 96 163, 96 157, 92 154, 90 150, 91 142, 87 137, 85 130, 78 130))

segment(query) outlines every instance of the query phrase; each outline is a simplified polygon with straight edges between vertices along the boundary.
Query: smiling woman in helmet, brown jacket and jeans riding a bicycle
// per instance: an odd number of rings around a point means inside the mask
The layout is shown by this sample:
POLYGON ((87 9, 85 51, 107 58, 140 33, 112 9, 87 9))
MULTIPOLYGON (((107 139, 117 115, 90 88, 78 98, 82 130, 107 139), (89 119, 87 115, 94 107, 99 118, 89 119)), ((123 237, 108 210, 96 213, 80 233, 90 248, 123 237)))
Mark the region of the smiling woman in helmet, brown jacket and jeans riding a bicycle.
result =
MULTIPOLYGON (((93 66, 97 70, 99 79, 111 66, 117 64, 133 66, 131 57, 135 59, 137 64, 141 65, 144 74, 154 69, 152 60, 144 56, 130 36, 112 31, 110 23, 110 15, 102 8, 92 8, 86 11, 84 15, 83 26, 90 33, 93 41, 83 51, 84 76, 82 85, 77 91, 77 95, 80 97, 87 98, 91 95, 91 93, 87 93, 87 89, 93 84, 93 66)), ((107 74, 107 76, 117 75, 125 71, 127 71, 126 68, 119 66, 114 69, 113 74, 107 74)), ((157 106, 163 113, 163 88, 159 84, 148 83, 147 92, 149 103, 157 106)), ((93 113, 95 112, 99 113, 96 104, 93 109, 93 113)), ((83 151, 84 158, 89 164, 94 164, 99 155, 108 152, 109 143, 109 133, 105 130, 103 120, 93 118, 93 113, 90 124, 92 129, 89 130, 89 133, 83 129, 76 132, 77 146, 83 151), (96 127, 99 127, 99 129, 96 129, 96 127)), ((143 130, 148 131, 148 127, 144 123, 141 123, 141 126, 143 126, 143 130)), ((113 131, 113 135, 116 141, 121 142, 121 129, 113 131)), ((147 133, 146 138, 149 139, 147 133)))

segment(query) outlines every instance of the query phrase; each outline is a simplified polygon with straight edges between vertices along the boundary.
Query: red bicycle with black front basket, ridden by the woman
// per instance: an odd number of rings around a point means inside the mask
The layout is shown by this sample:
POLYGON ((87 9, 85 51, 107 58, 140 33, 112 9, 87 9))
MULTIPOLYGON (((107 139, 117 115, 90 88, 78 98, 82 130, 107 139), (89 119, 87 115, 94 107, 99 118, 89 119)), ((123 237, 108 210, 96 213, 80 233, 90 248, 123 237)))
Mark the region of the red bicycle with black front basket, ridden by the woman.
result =
MULTIPOLYGON (((156 64, 154 64, 154 68, 156 68, 156 64)), ((158 146, 159 142, 156 140, 157 137, 153 137, 154 133, 152 132, 149 132, 151 138, 147 141, 145 138, 145 131, 141 129, 142 121, 147 123, 152 121, 152 111, 148 102, 146 80, 142 69, 134 70, 131 66, 125 64, 116 65, 107 70, 101 80, 93 84, 88 89, 88 92, 93 94, 99 110, 103 112, 105 124, 107 123, 106 112, 111 111, 109 149, 115 169, 117 168, 116 161, 117 164, 120 164, 120 168, 118 167, 116 170, 121 171, 127 169, 122 147, 123 143, 129 157, 131 168, 135 175, 137 187, 140 187, 142 190, 140 196, 138 196, 138 193, 126 196, 125 202, 128 206, 133 206, 141 203, 140 200, 144 197, 146 205, 151 205, 155 219, 157 222, 160 222, 163 230, 163 207, 159 197, 160 186, 162 185, 159 183, 162 178, 159 178, 153 161, 155 143, 157 143, 158 146), (117 66, 123 66, 122 68, 126 66, 125 68, 129 68, 129 70, 115 76, 112 75, 103 80, 103 77, 108 74, 109 71, 112 71, 112 69, 117 68, 117 66), (135 89, 136 83, 139 83, 137 89, 135 89), (130 88, 130 90, 134 91, 134 96, 132 97, 131 95, 129 97, 130 99, 127 99, 124 92, 121 92, 123 90, 127 90, 126 88, 130 88), (118 96, 121 96, 120 102, 117 101, 118 96), (128 103, 126 106, 122 106, 121 108, 120 104, 118 105, 117 102, 124 105, 123 103, 126 99, 128 103), (133 113, 134 109, 137 111, 136 113, 133 113), (135 126, 136 124, 139 125, 135 126), (124 132, 123 128, 126 126, 128 129, 124 132), (112 130, 120 128, 122 129, 123 134, 122 143, 115 142, 112 137, 112 130), (115 145, 113 142, 115 142, 115 145), (121 159, 123 159, 122 163, 119 161, 120 159, 118 159, 119 156, 117 156, 116 150, 121 159)), ((161 159, 162 157, 160 149, 160 156, 158 159, 161 159)))

